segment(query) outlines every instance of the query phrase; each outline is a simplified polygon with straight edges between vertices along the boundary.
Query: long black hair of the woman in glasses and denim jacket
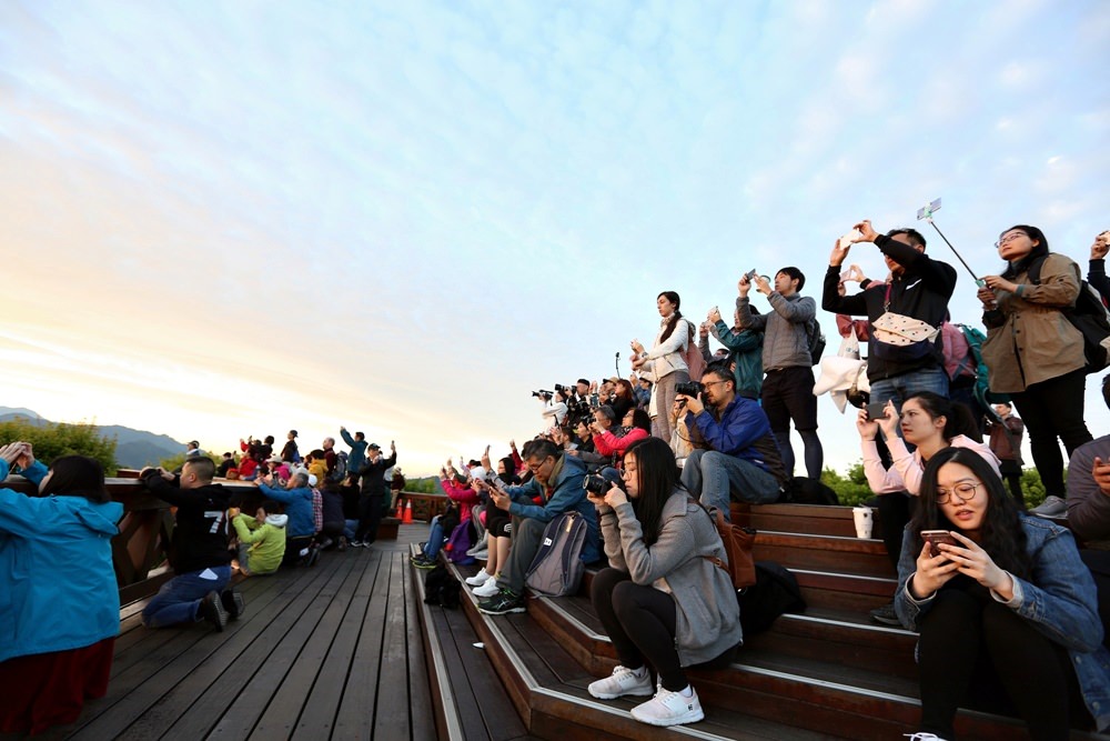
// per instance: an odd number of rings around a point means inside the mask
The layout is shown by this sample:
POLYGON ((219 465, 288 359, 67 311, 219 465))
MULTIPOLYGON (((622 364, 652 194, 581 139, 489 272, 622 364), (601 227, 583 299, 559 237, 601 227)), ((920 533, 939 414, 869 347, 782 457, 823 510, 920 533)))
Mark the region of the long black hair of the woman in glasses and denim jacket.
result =
POLYGON ((998 568, 1015 577, 1028 579, 1032 574, 1032 562, 1026 552, 1026 531, 1021 528, 1018 505, 1006 492, 1002 480, 990 464, 968 448, 945 448, 926 464, 918 493, 920 501, 909 523, 910 532, 917 534, 915 553, 919 553, 925 547, 920 534, 922 530, 956 530, 963 534, 959 525, 949 521, 937 504, 937 479, 941 467, 948 463, 959 463, 971 469, 982 482, 976 493, 977 497, 987 497, 987 509, 979 527, 979 545, 990 554, 998 568))

